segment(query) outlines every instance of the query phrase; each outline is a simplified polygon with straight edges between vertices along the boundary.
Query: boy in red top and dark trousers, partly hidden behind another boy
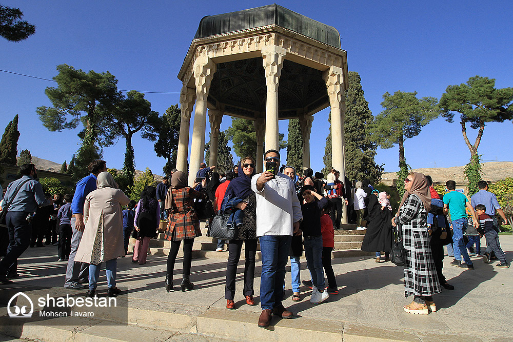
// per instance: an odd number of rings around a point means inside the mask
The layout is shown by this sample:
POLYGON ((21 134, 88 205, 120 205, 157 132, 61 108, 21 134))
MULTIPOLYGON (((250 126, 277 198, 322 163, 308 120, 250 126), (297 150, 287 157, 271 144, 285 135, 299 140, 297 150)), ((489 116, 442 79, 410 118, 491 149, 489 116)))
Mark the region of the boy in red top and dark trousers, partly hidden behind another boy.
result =
POLYGON ((328 278, 328 294, 339 294, 337 288, 337 280, 335 279, 335 273, 331 267, 331 251, 335 247, 335 231, 333 229, 333 223, 329 216, 329 207, 331 203, 321 209, 321 232, 322 232, 322 267, 328 278))

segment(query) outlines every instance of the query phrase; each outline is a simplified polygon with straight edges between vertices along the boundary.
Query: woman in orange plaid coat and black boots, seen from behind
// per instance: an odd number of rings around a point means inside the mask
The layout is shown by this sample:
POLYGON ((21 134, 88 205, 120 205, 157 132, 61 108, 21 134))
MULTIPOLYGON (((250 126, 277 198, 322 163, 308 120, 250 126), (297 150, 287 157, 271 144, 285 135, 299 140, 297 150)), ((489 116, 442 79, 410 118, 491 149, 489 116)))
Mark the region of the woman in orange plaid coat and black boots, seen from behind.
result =
MULTIPOLYGON (((206 183, 203 179, 203 188, 206 183)), ((193 199, 205 199, 207 193, 205 191, 198 192, 194 187, 187 186, 187 177, 182 171, 176 171, 171 177, 171 187, 167 191, 165 210, 168 211, 169 224, 167 226, 164 238, 171 242, 171 250, 167 257, 166 270, 166 290, 170 292, 173 288, 173 270, 180 244, 184 240, 184 262, 183 262, 183 278, 180 285, 182 291, 192 290, 194 284, 189 281, 192 263, 192 245, 194 238, 201 236, 200 220, 194 212, 192 205, 193 199)))

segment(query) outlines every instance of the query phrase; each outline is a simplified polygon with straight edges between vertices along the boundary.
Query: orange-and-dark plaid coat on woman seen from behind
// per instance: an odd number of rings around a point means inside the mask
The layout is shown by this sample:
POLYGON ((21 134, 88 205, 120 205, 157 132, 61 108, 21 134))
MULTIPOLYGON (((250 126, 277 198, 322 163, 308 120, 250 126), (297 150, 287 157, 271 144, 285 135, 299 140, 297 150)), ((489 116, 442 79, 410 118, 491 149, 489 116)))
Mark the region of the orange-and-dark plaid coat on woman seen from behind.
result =
POLYGON ((164 238, 168 241, 179 241, 201 236, 200 220, 192 209, 192 202, 194 198, 206 198, 206 193, 190 187, 170 188, 169 191, 173 192, 173 212, 164 238))

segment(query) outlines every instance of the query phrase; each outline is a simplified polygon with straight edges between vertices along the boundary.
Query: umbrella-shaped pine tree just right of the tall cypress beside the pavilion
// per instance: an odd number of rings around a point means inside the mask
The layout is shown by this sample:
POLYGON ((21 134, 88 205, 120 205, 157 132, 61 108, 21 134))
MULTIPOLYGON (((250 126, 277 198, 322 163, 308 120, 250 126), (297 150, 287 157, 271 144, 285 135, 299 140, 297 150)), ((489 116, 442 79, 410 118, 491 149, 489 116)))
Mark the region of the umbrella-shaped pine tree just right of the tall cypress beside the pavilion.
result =
POLYGON ((408 168, 404 157, 404 140, 418 135, 422 127, 440 115, 435 97, 418 99, 416 95, 417 92, 400 90, 393 95, 386 92, 381 103, 384 109, 372 127, 373 139, 381 148, 389 149, 399 145, 399 168, 402 173, 408 168))

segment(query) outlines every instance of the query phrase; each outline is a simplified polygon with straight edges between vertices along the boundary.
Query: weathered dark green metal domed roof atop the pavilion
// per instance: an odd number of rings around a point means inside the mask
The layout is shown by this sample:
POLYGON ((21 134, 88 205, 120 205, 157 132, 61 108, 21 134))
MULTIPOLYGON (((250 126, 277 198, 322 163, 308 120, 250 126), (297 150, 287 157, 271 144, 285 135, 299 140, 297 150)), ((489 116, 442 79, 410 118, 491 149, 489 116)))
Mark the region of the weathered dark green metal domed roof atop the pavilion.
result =
POLYGON ((337 29, 276 4, 205 16, 194 39, 273 24, 340 49, 337 29))

